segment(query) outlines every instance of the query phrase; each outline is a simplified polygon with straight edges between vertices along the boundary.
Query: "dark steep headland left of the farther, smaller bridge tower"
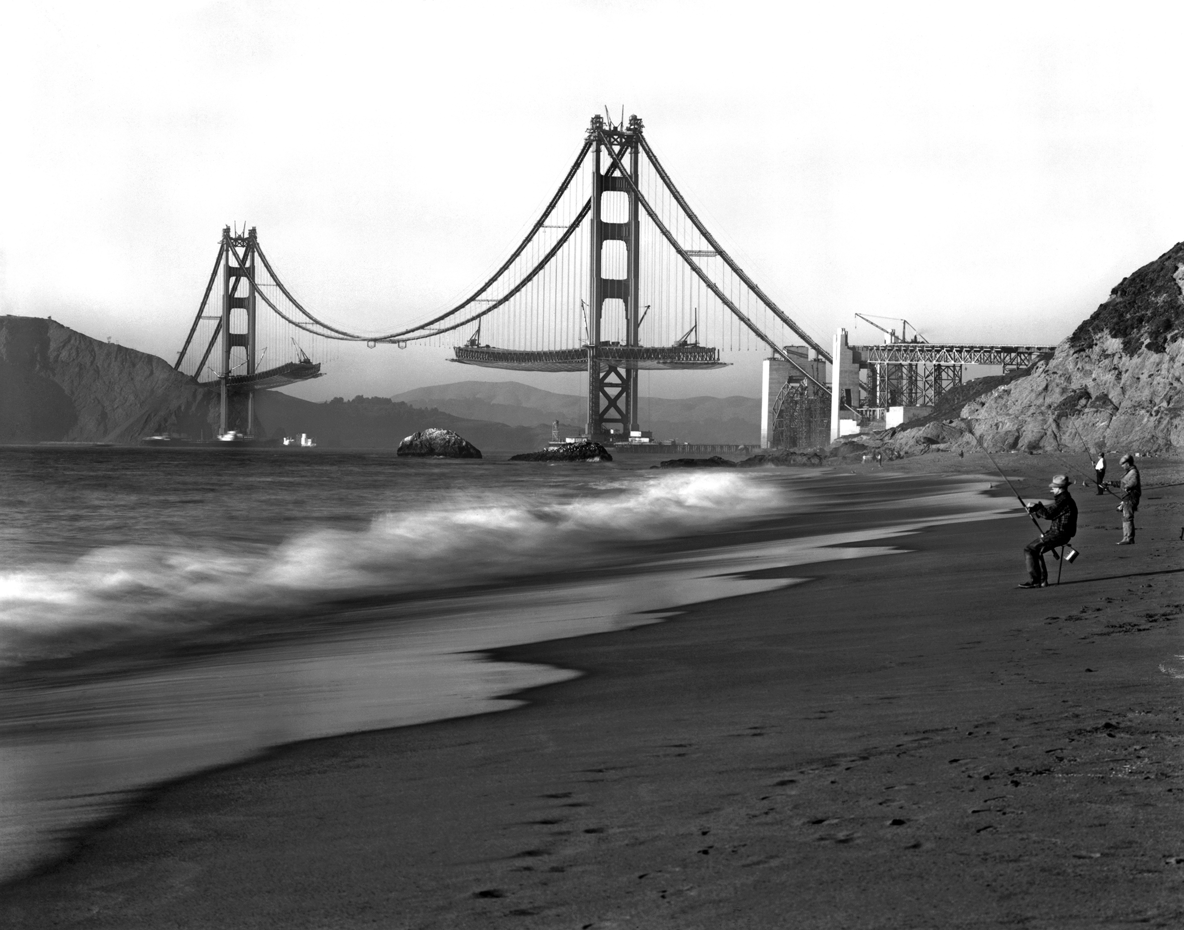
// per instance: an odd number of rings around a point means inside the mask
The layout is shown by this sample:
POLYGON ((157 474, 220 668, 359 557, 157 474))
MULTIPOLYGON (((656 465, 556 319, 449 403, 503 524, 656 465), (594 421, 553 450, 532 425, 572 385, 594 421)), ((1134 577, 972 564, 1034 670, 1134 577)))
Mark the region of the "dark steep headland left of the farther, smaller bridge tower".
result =
POLYGON ((39 317, 0 316, 0 443, 213 437, 218 393, 163 359, 39 317))

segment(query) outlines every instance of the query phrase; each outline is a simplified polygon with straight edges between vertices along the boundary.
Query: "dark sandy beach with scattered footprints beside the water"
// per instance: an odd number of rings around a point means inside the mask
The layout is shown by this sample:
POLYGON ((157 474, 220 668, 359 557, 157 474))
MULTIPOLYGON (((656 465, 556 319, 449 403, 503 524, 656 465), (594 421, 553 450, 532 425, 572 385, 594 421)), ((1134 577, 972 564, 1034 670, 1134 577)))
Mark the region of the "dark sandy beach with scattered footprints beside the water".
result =
MULTIPOLYGON (((986 465, 926 458, 899 467, 986 465)), ((1063 471, 1017 459, 1028 487, 1063 471)), ((1148 487, 1122 548, 1113 498, 1074 491, 1060 587, 1015 588, 1017 512, 497 650, 585 674, 161 789, 6 886, 0 923, 1180 925, 1184 489, 1148 487)))

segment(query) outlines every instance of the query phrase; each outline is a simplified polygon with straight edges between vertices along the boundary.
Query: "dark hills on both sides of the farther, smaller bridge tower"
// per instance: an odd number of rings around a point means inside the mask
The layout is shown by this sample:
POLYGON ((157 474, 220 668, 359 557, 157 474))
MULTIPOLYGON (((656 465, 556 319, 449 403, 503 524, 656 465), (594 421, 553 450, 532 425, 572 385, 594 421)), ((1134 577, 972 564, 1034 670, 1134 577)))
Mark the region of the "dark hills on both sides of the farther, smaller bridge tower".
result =
MULTIPOLYGON (((395 448, 429 426, 455 430, 478 448, 545 445, 551 427, 507 426, 398 403, 336 398, 313 403, 256 394, 265 438, 310 433, 322 446, 395 448)), ((137 443, 152 433, 217 434, 219 395, 163 359, 84 336, 52 319, 0 316, 0 443, 137 443)))

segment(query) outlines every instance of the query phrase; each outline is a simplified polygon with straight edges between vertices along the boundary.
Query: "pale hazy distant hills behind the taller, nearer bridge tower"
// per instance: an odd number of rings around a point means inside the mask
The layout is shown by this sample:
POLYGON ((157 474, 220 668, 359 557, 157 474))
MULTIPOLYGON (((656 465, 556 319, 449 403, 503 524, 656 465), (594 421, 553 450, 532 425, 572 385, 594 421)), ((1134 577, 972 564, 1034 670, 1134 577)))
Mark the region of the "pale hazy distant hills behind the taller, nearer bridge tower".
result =
MULTIPOLYGON (((542 426, 554 420, 583 426, 585 399, 517 381, 458 381, 395 394, 393 401, 435 407, 456 416, 542 426)), ((659 439, 686 443, 748 443, 760 439, 760 400, 755 398, 643 398, 642 427, 659 439)))

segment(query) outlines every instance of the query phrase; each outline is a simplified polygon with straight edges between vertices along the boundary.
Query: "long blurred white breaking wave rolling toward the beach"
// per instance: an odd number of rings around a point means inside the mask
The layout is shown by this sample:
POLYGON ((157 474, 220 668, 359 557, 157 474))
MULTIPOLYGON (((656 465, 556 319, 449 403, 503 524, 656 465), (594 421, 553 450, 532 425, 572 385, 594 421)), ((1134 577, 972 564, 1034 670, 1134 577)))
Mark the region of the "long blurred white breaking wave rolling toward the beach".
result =
POLYGON ((62 657, 242 616, 366 595, 455 590, 613 557, 622 543, 677 537, 778 509, 785 491, 719 472, 408 500, 361 530, 313 529, 279 544, 226 541, 96 548, 71 563, 0 571, 0 664, 62 657))

